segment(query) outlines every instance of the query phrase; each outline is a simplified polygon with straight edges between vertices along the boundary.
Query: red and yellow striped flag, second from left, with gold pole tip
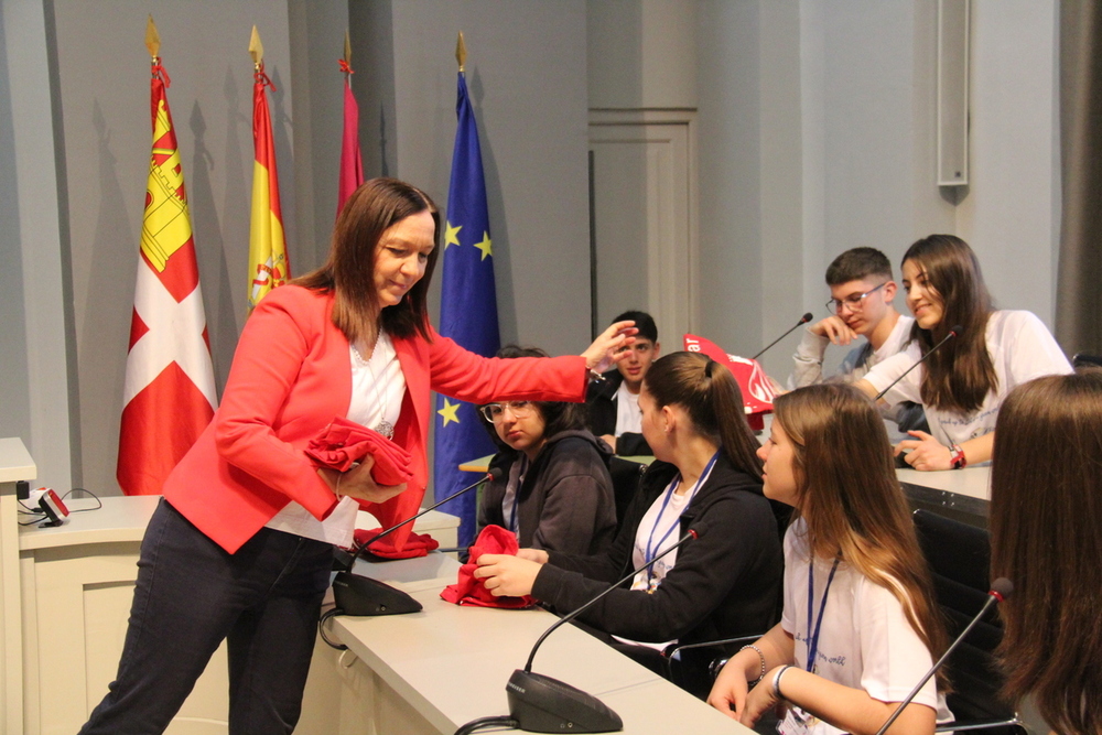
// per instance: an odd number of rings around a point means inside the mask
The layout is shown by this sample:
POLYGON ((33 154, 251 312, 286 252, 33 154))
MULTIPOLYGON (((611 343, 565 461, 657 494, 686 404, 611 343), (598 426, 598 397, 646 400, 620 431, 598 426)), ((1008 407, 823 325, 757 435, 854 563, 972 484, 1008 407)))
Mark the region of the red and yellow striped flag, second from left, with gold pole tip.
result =
POLYGON ((263 46, 257 26, 252 26, 252 216, 249 225, 249 307, 256 306, 272 289, 283 285, 291 277, 283 240, 283 213, 279 203, 279 174, 276 171, 276 147, 272 143, 272 119, 268 111, 264 87, 271 79, 264 74, 263 46))

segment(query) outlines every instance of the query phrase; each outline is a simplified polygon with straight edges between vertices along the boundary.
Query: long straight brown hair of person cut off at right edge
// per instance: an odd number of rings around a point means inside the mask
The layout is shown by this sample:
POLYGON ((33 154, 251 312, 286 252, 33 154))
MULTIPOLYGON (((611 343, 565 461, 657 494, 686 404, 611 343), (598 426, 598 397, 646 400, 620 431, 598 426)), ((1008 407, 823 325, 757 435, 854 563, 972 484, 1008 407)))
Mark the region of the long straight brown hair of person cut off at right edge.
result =
POLYGON ((995 423, 991 573, 1014 583, 998 652, 1012 701, 1102 733, 1102 371, 1014 389, 995 423))

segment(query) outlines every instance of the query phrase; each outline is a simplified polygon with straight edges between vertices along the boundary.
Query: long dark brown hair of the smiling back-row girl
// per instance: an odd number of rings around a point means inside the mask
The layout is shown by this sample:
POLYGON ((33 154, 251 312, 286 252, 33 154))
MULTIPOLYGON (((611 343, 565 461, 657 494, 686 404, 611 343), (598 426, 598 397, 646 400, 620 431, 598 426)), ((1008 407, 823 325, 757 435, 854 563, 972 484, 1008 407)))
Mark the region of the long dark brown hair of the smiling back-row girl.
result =
POLYGON ((911 338, 922 352, 941 342, 953 326, 961 333, 926 359, 922 402, 936 409, 973 413, 987 391, 997 390, 998 378, 987 353, 987 318, 993 311, 980 261, 968 242, 953 235, 930 235, 904 253, 942 301, 941 322, 932 329, 915 323, 911 338))

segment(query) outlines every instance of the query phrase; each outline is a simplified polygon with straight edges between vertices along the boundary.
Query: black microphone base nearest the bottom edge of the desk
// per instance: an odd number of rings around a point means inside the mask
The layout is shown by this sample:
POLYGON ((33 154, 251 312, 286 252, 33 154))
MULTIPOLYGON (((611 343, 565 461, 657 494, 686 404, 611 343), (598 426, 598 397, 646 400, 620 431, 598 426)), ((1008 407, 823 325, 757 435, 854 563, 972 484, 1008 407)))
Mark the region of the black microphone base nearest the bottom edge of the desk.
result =
POLYGON ((604 702, 558 679, 517 669, 505 691, 509 716, 530 733, 614 733, 619 715, 604 702))

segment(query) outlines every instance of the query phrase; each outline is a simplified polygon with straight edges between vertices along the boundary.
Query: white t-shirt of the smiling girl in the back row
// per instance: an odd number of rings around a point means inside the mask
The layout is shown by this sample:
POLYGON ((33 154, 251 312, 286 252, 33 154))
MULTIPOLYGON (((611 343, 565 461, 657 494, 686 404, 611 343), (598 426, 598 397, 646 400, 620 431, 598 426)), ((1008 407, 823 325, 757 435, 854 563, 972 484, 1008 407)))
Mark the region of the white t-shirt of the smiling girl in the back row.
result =
MULTIPOLYGON (((995 417, 1006 396, 1016 387, 1046 375, 1065 375, 1072 371, 1063 350, 1056 344, 1044 323, 1036 315, 1024 311, 997 311, 987 318, 987 353, 991 355, 998 379, 997 389, 988 391, 979 411, 963 415, 953 411, 925 407, 930 433, 944 445, 960 444, 983 436, 995 430, 995 417)), ((865 376, 877 392, 906 372, 922 356, 916 343, 895 357, 890 357, 865 376)), ((921 386, 926 366, 919 365, 889 390, 884 399, 895 404, 900 401, 922 402, 921 386)))

